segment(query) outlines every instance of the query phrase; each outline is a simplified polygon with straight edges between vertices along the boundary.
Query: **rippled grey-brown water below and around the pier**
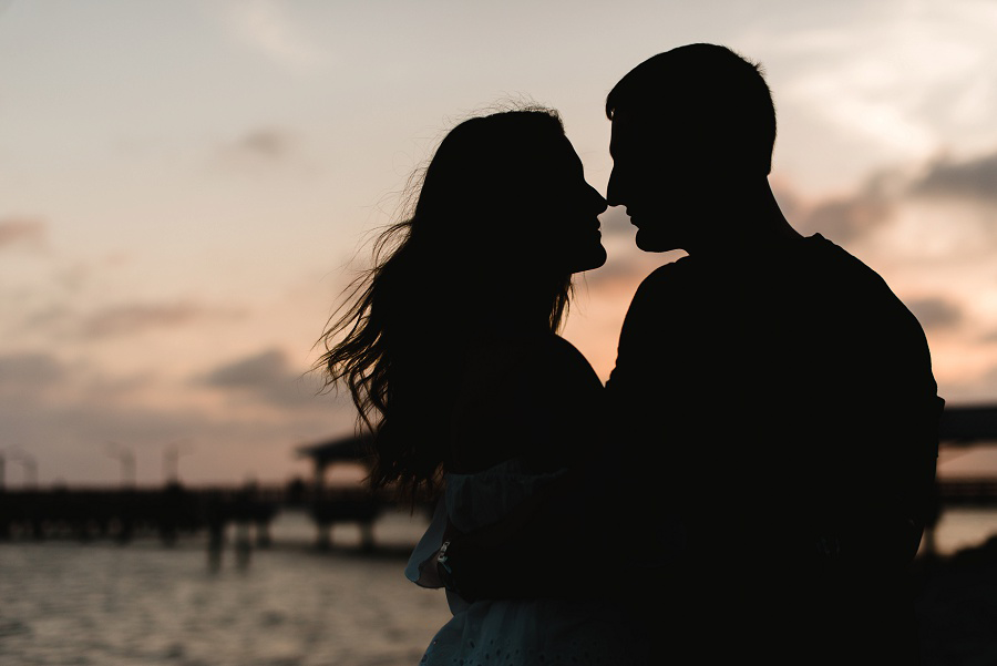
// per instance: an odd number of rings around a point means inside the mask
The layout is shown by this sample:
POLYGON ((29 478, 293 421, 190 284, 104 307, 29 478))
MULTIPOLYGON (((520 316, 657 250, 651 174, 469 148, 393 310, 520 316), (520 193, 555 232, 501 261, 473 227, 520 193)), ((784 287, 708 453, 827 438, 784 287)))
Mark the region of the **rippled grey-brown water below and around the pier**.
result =
MULTIPOLYGON (((424 520, 377 526, 397 551, 424 520)), ((349 526, 333 541, 356 544, 349 526)), ((937 532, 952 551, 997 534, 995 511, 950 511, 937 532)), ((317 553, 307 519, 274 525, 276 545, 216 571, 205 540, 164 549, 154 540, 0 544, 0 664, 349 665, 417 664, 449 618, 443 596, 404 580, 404 559, 343 547, 317 553)))

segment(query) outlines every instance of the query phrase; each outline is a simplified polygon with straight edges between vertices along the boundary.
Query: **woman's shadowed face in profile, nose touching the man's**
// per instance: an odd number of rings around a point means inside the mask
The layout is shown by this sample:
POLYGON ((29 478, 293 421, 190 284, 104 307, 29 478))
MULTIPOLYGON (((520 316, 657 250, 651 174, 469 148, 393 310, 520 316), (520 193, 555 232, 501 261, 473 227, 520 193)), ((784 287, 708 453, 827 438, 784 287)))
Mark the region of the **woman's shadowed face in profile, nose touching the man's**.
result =
POLYGON ((526 177, 518 216, 542 266, 592 270, 606 263, 598 215, 606 199, 585 181, 582 160, 566 136, 534 146, 524 156, 526 177))

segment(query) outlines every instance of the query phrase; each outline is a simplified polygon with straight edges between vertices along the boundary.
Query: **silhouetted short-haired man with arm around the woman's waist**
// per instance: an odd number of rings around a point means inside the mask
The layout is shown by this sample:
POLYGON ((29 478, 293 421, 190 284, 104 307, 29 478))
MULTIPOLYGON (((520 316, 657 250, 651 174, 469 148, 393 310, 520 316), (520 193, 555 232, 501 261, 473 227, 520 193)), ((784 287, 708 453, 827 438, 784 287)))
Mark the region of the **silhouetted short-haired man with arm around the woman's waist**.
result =
POLYGON ((666 637, 661 663, 916 663, 904 572, 943 404, 921 326, 782 215, 757 65, 674 49, 624 76, 606 113, 609 204, 641 249, 689 256, 627 314, 607 383, 615 465, 583 470, 503 547, 458 537, 453 576, 477 597, 629 591, 649 639, 666 637), (600 550, 578 509, 599 495, 578 488, 607 475, 624 510, 610 504, 619 530, 600 550))

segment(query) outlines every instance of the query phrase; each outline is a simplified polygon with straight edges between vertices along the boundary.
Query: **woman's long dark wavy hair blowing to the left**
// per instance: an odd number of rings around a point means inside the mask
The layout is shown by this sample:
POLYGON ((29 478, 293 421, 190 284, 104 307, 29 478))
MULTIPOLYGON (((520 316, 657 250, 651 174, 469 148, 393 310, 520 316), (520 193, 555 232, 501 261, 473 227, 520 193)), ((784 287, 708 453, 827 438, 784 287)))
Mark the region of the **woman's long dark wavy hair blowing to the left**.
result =
POLYGON ((571 274, 510 269, 517 246, 530 243, 512 228, 539 185, 531 155, 553 141, 564 141, 564 126, 542 107, 472 117, 451 130, 421 183, 410 185, 411 212, 378 237, 373 267, 330 318, 316 367, 327 388, 349 388, 360 427, 374 433, 373 488, 395 483, 413 499, 436 490, 451 461, 449 406, 464 346, 510 280, 528 280, 535 311, 558 329, 571 274))

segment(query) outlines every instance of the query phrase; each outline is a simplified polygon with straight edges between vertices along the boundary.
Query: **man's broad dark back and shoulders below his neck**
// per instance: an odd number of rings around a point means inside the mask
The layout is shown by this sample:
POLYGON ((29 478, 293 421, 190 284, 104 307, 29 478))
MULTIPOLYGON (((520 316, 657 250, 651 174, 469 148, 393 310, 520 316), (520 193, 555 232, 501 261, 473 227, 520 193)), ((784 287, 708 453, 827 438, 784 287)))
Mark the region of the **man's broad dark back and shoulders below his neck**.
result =
POLYGON ((842 576, 867 600, 896 594, 941 400, 921 326, 861 262, 813 236, 665 266, 634 298, 608 386, 662 461, 637 467, 664 473, 646 483, 686 523, 703 614, 734 621, 761 596, 759 623, 833 615, 842 576))

